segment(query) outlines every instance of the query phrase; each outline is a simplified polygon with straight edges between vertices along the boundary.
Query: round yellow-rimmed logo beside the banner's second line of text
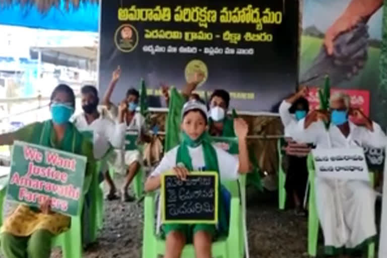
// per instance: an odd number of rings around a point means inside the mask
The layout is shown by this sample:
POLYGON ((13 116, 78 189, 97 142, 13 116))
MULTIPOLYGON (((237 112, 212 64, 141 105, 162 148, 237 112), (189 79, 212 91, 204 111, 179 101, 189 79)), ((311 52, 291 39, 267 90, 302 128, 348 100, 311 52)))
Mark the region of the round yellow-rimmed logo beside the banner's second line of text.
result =
POLYGON ((131 24, 122 24, 115 31, 114 42, 122 52, 132 52, 139 43, 139 32, 131 24))

